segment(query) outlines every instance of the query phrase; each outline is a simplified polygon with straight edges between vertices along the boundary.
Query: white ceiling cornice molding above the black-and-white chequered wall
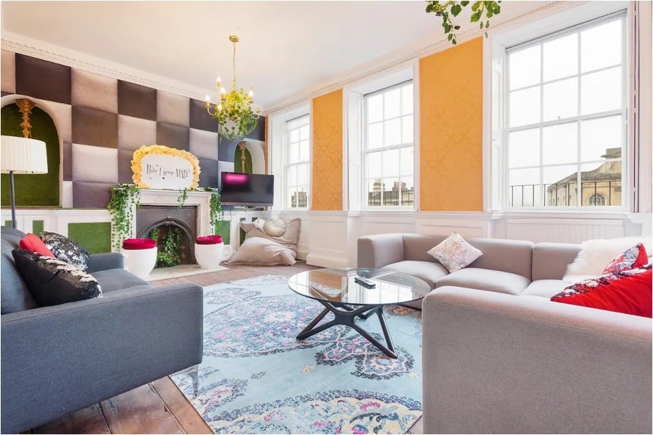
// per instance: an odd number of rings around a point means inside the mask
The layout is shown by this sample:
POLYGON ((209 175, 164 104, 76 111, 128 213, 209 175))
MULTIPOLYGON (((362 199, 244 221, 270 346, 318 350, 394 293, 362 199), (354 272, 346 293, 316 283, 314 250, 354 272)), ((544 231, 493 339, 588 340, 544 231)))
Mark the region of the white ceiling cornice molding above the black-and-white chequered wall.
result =
POLYGON ((84 54, 80 51, 74 51, 41 40, 28 38, 18 33, 3 31, 1 48, 68 67, 83 69, 84 71, 107 76, 111 79, 129 81, 184 97, 204 100, 206 93, 187 83, 167 79, 166 77, 127 67, 111 60, 84 54))

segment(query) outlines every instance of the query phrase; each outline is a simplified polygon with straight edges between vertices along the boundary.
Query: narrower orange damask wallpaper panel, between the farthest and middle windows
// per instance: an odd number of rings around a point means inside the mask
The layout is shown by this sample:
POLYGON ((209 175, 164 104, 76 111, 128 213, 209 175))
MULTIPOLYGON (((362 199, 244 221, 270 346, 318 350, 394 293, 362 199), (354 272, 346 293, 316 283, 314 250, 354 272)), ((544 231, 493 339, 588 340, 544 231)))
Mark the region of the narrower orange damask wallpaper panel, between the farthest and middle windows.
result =
POLYGON ((311 210, 343 209, 343 90, 313 99, 311 210))

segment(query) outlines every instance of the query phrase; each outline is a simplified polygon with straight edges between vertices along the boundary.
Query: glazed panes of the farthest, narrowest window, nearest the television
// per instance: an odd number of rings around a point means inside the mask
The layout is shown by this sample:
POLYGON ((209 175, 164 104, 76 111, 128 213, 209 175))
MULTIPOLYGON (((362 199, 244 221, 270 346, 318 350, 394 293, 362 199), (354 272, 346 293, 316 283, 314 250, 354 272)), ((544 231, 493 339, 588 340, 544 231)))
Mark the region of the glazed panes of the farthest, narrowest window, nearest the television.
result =
POLYGON ((308 208, 310 164, 309 118, 303 115, 285 122, 285 191, 287 208, 308 208))

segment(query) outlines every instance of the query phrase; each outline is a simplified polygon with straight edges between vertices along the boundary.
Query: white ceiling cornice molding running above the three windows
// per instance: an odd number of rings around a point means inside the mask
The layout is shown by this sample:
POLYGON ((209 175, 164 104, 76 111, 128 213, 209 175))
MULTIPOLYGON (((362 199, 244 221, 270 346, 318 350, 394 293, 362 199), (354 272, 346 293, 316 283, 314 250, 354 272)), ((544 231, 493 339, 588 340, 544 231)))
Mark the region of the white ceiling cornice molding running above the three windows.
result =
MULTIPOLYGON (((561 0, 549 1, 548 3, 540 5, 537 8, 527 10, 526 12, 521 13, 520 15, 517 15, 515 17, 510 17, 508 19, 501 19, 501 15, 497 15, 496 17, 494 17, 492 21, 492 26, 490 28, 490 31, 505 30, 505 28, 521 26, 522 24, 526 24, 528 20, 533 19, 535 15, 560 12, 561 10, 566 10, 569 8, 573 8, 574 6, 578 6, 580 3, 585 3, 585 2, 561 1, 561 0)), ((469 40, 473 40, 474 38, 479 38, 483 36, 483 34, 484 32, 480 31, 480 29, 473 28, 468 31, 464 31, 462 33, 457 33, 456 39, 459 44, 462 44, 469 40)), ((352 83, 363 81, 363 80, 375 79, 377 76, 382 76, 387 74, 388 72, 391 72, 392 69, 395 69, 400 65, 409 63, 418 58, 430 56, 432 54, 449 49, 451 47, 453 47, 451 42, 449 42, 443 35, 440 40, 434 42, 433 44, 428 44, 426 46, 420 45, 420 46, 412 47, 411 49, 408 50, 403 49, 393 54, 388 54, 388 56, 384 56, 384 57, 391 58, 391 60, 389 61, 386 61, 384 63, 379 63, 378 60, 372 60, 371 62, 366 63, 365 65, 356 67, 356 69, 352 69, 349 72, 340 74, 340 76, 338 77, 338 79, 336 79, 336 81, 333 81, 328 85, 322 85, 317 88, 313 88, 312 90, 304 90, 304 91, 296 92, 293 95, 290 95, 287 98, 285 98, 283 102, 276 101, 274 104, 271 104, 267 108, 266 113, 268 113, 269 115, 274 115, 274 113, 287 110, 292 106, 297 106, 297 104, 304 103, 307 100, 313 99, 315 97, 319 97, 320 95, 324 95, 329 92, 333 92, 335 90, 345 88, 345 86, 350 85, 352 83)))

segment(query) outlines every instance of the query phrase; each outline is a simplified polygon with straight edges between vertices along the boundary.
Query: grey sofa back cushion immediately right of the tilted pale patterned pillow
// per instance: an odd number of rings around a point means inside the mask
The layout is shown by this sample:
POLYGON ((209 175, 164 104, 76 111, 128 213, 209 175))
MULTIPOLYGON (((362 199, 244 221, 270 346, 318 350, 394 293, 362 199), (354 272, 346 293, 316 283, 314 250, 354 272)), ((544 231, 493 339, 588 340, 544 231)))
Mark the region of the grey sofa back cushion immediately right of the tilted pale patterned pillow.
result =
MULTIPOLYGON (((483 253, 468 267, 500 270, 521 275, 531 281, 533 242, 499 238, 469 238, 467 242, 483 253)), ((455 284, 454 284, 455 285, 455 284)))

